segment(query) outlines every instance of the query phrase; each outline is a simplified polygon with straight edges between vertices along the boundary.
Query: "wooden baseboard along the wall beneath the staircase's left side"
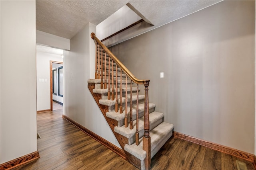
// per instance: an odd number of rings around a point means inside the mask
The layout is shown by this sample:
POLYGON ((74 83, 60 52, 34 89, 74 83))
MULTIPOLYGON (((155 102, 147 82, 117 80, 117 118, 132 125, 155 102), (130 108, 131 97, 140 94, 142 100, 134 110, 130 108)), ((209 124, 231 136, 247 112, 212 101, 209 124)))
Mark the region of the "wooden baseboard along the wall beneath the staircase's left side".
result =
POLYGON ((84 133, 86 133, 87 135, 89 135, 90 137, 92 137, 93 139, 95 139, 96 141, 98 141, 99 143, 101 143, 102 145, 107 147, 108 149, 112 150, 113 152, 115 152, 116 154, 118 154, 119 156, 124 158, 125 160, 128 160, 126 158, 126 154, 124 153, 124 151, 122 149, 116 147, 116 145, 113 145, 112 143, 110 143, 106 139, 103 139, 99 135, 97 135, 97 134, 93 133, 92 131, 86 129, 85 127, 83 127, 82 125, 77 123, 76 121, 70 119, 68 116, 62 115, 62 118, 66 119, 67 121, 72 123, 74 126, 76 126, 78 129, 80 129, 81 131, 83 131, 84 133))

